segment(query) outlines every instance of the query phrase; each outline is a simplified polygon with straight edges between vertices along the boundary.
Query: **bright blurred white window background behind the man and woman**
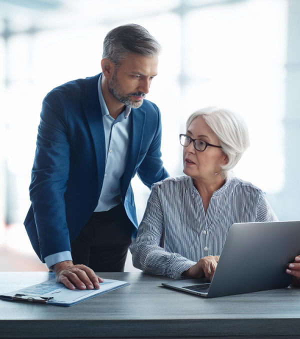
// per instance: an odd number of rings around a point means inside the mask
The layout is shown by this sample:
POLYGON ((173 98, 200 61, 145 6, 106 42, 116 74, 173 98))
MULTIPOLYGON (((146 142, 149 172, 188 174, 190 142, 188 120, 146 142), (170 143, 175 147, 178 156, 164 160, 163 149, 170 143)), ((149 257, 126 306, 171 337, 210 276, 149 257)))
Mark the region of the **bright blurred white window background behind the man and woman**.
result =
MULTIPOLYGON (((0 0, 0 270, 47 270, 22 225, 41 102, 99 73, 104 36, 129 22, 162 45, 147 99, 161 111, 170 175, 182 174, 188 115, 232 109, 251 141, 236 176, 266 192, 279 220, 300 219, 300 0, 0 0)), ((137 177, 132 186, 140 221, 149 190, 137 177)))

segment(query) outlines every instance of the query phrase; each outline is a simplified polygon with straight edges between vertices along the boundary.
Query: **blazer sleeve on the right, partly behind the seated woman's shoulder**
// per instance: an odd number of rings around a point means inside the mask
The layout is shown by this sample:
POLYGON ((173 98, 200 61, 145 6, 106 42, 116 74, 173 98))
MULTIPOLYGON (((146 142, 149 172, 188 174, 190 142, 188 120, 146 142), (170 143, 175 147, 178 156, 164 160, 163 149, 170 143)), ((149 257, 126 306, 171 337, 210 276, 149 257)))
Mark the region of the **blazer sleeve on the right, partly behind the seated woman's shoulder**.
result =
POLYGON ((163 167, 161 160, 161 117, 159 108, 156 108, 158 113, 156 132, 147 153, 137 170, 138 177, 148 188, 151 188, 153 183, 161 181, 169 176, 168 172, 163 167))

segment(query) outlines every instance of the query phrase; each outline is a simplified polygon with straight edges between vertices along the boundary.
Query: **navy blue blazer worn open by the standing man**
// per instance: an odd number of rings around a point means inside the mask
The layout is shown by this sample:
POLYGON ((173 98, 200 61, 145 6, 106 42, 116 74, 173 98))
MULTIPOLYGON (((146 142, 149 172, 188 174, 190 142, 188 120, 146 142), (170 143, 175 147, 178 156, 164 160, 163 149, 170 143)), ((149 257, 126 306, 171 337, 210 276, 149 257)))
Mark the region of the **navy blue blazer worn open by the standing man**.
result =
MULTIPOLYGON (((70 251, 72 242, 96 208, 105 170, 105 137, 97 82, 99 75, 52 89, 44 98, 29 186, 31 206, 24 225, 39 258, 70 251)), ((168 176, 160 159, 158 107, 144 100, 132 108, 131 135, 120 195, 138 227, 130 180, 137 173, 152 183, 168 176)))

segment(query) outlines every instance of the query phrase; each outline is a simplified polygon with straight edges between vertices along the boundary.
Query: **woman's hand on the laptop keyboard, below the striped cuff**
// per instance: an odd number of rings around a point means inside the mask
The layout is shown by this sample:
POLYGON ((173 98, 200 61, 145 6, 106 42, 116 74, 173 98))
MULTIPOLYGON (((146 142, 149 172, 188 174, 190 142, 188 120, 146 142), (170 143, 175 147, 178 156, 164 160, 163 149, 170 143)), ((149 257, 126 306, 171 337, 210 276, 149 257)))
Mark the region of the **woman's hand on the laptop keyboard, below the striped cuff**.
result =
POLYGON ((219 255, 204 256, 196 264, 184 271, 182 275, 189 278, 202 278, 205 276, 206 278, 209 277, 211 281, 219 257, 219 255))

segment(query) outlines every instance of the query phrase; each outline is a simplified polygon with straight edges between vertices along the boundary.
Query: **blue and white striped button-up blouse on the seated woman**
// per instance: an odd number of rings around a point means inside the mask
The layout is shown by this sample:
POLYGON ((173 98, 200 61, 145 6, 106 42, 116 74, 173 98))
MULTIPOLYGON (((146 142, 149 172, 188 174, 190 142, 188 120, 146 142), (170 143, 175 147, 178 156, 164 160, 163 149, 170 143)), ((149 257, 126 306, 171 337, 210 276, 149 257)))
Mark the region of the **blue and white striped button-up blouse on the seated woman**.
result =
POLYGON ((235 222, 277 221, 261 189, 236 177, 213 192, 204 213, 190 176, 152 185, 136 239, 130 245, 133 266, 150 274, 179 279, 201 257, 220 255, 235 222))

